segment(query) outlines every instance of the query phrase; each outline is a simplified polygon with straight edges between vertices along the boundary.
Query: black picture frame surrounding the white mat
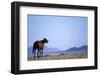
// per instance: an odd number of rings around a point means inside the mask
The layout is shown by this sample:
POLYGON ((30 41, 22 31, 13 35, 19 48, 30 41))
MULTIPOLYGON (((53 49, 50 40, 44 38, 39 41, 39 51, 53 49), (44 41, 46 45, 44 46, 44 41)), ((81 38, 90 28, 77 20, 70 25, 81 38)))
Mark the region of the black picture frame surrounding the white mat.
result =
POLYGON ((27 74, 27 73, 44 73, 44 72, 59 72, 59 71, 73 71, 73 70, 89 70, 97 69, 97 7, 96 6, 81 6, 81 5, 65 5, 65 4, 48 4, 48 3, 32 3, 32 2, 12 2, 11 3, 11 73, 13 74, 27 74), (35 70, 20 70, 20 6, 27 7, 45 7, 45 8, 62 8, 62 9, 79 9, 79 10, 93 10, 95 12, 95 28, 94 28, 94 47, 95 57, 94 66, 81 67, 62 67, 62 68, 48 68, 35 70))

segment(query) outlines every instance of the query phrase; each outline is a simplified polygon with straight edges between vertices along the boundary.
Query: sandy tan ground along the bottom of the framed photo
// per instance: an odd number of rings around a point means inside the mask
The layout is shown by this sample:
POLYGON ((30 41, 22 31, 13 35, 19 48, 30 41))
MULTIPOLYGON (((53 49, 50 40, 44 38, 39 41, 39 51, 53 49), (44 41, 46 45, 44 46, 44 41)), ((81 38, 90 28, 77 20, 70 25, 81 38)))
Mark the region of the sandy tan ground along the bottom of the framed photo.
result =
POLYGON ((28 57, 28 61, 33 61, 33 60, 61 60, 61 59, 83 59, 87 58, 87 52, 83 53, 74 53, 74 54, 61 54, 61 55, 46 55, 43 58, 36 58, 34 59, 33 57, 28 57))

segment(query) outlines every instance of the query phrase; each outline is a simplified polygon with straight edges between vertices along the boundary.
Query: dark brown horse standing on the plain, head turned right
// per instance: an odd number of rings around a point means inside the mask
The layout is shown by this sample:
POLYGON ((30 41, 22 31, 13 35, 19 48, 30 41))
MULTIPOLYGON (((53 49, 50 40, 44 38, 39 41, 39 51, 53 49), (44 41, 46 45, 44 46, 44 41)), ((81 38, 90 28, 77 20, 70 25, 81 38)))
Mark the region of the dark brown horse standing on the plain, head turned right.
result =
POLYGON ((35 41, 33 43, 33 54, 34 54, 34 59, 36 58, 36 51, 37 51, 37 57, 43 57, 43 48, 44 44, 48 43, 48 40, 44 38, 43 40, 40 41, 35 41))

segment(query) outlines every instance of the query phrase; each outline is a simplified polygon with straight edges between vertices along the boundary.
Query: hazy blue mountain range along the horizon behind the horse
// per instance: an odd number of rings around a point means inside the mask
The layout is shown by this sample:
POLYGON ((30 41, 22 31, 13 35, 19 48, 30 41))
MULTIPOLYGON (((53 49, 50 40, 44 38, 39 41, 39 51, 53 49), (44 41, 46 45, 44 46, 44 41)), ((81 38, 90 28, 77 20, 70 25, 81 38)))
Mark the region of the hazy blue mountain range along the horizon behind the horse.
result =
MULTIPOLYGON (((65 53, 79 53, 79 52, 87 52, 88 47, 86 45, 81 46, 81 47, 72 47, 67 50, 59 50, 58 48, 49 48, 47 46, 44 47, 44 54, 65 54, 65 53)), ((28 48, 28 54, 31 56, 32 55, 32 47, 28 48)))

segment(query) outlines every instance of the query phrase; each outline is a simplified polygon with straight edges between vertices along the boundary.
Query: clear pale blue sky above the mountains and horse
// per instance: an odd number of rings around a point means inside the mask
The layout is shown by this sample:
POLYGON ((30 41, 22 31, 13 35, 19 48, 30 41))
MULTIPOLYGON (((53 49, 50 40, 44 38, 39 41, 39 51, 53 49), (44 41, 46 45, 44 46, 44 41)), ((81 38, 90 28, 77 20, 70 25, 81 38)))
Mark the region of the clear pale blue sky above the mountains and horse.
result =
POLYGON ((87 27, 87 17, 28 15, 28 47, 43 38, 60 50, 87 45, 87 27))

